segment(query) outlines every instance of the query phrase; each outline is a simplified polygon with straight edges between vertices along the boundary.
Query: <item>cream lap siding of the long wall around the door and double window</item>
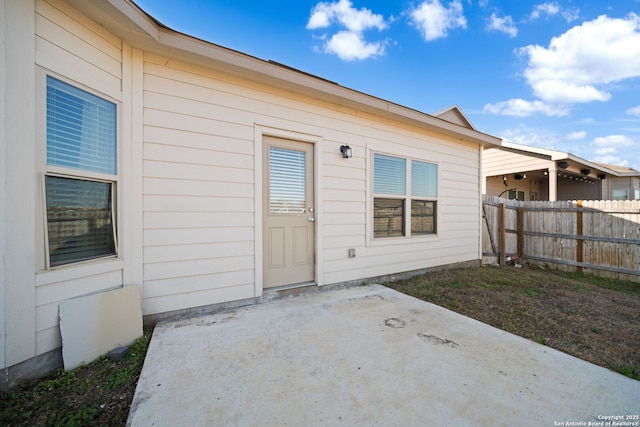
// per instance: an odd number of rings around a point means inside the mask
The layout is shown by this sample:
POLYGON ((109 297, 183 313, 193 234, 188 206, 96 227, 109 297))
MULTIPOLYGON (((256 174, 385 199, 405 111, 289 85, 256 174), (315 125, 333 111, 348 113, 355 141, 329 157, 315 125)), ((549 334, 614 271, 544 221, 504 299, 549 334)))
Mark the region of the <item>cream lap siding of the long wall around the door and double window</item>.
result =
POLYGON ((321 140, 319 284, 478 259, 477 145, 156 55, 144 72, 145 314, 260 294, 256 125, 321 140), (374 151, 438 164, 437 236, 370 238, 374 151))

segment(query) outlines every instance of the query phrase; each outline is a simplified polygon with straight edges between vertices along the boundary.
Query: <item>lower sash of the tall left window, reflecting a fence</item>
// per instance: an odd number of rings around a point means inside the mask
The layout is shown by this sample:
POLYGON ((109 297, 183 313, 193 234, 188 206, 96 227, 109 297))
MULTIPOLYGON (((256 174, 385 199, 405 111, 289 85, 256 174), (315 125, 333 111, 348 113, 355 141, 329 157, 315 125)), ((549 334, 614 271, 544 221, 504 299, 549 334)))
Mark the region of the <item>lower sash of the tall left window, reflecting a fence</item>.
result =
POLYGON ((51 265, 115 255, 112 184, 55 176, 45 183, 51 265))

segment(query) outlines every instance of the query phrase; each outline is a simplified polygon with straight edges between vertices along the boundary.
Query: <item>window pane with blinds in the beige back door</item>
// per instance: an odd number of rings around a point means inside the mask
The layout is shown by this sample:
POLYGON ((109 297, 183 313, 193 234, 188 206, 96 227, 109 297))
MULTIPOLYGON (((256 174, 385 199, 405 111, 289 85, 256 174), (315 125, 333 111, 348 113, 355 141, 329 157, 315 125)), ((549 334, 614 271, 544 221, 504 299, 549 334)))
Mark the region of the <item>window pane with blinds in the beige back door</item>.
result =
POLYGON ((306 153, 270 147, 269 213, 304 213, 306 185, 306 153))

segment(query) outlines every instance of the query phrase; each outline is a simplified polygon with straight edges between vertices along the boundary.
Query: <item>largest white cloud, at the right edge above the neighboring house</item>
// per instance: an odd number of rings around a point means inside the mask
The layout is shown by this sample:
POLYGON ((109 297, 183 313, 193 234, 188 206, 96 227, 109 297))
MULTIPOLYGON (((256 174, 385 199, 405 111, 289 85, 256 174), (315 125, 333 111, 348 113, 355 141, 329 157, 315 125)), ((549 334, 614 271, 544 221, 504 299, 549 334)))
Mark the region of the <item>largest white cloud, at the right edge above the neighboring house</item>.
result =
POLYGON ((607 101, 603 86, 640 76, 640 17, 600 16, 554 37, 545 48, 517 50, 528 57, 524 72, 537 98, 549 103, 607 101))

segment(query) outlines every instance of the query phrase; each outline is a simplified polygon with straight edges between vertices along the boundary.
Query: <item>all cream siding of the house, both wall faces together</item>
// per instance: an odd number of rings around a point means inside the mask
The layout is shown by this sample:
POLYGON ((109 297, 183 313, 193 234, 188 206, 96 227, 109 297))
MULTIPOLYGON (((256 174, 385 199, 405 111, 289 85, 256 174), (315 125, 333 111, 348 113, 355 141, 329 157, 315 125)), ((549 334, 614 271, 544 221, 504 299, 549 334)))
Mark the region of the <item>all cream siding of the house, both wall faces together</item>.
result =
POLYGON ((260 296, 262 133, 315 144, 319 285, 479 259, 475 143, 134 49, 62 1, 1 9, 2 367, 60 347, 69 298, 133 283, 150 315, 260 296), (47 74, 118 104, 117 258, 45 269, 47 74), (437 235, 372 238, 374 152, 438 164, 437 235))

